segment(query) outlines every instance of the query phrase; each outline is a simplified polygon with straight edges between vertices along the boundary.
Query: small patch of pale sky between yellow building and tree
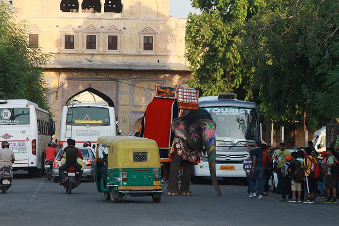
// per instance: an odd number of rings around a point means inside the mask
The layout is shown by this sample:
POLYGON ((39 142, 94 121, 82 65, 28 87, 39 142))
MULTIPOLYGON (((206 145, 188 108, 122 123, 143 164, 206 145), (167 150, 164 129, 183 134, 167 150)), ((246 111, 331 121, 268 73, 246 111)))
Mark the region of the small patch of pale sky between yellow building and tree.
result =
POLYGON ((198 13, 199 10, 196 10, 191 4, 191 0, 170 0, 170 15, 173 17, 187 18, 190 12, 198 13))

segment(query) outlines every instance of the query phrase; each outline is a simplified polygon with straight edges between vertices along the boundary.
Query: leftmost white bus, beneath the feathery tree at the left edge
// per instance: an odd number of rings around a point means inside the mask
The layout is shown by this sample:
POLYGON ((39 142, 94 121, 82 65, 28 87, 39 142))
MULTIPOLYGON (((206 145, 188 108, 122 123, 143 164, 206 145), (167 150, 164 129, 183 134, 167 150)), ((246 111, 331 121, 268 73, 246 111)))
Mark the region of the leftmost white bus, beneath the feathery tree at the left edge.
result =
POLYGON ((44 153, 55 124, 47 110, 28 100, 0 100, 0 142, 13 150, 13 170, 42 176, 44 153))

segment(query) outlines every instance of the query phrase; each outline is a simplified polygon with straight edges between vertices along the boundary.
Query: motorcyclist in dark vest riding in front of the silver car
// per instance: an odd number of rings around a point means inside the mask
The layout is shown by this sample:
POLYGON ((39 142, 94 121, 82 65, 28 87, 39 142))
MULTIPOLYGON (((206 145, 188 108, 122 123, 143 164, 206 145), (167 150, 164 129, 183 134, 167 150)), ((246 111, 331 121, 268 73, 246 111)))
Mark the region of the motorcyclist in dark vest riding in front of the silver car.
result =
POLYGON ((66 163, 59 167, 59 181, 61 182, 61 185, 63 185, 62 183, 66 181, 66 175, 64 171, 69 166, 74 166, 76 167, 76 171, 79 172, 79 174, 76 177, 76 184, 80 184, 80 179, 82 175, 82 171, 81 171, 82 165, 80 165, 77 162, 77 158, 79 157, 83 159, 81 150, 75 147, 76 141, 71 138, 67 139, 67 144, 68 146, 65 147, 64 152, 61 154, 61 159, 62 159, 64 156, 64 153, 66 153, 66 163))

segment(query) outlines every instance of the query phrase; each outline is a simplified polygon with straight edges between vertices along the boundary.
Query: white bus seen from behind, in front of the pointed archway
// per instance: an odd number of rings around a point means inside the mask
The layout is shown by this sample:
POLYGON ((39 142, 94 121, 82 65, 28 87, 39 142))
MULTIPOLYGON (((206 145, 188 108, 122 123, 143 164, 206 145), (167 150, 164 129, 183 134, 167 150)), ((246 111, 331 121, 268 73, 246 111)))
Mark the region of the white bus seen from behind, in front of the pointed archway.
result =
POLYGON ((71 101, 64 106, 60 122, 60 148, 67 146, 67 139, 76 140, 77 147, 90 141, 97 143, 98 137, 117 136, 117 120, 114 107, 105 101, 71 101))

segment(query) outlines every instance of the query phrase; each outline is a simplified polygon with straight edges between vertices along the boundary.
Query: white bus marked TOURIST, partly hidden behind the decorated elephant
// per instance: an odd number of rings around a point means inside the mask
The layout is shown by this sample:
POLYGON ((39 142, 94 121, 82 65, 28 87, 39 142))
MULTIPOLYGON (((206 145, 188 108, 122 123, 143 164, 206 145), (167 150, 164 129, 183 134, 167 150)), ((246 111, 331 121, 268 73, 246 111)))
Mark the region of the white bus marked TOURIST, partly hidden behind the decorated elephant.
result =
MULTIPOLYGON (((243 161, 250 149, 241 143, 253 146, 260 139, 260 123, 254 102, 240 101, 234 94, 199 98, 199 108, 207 110, 216 127, 216 174, 222 178, 246 178, 243 161)), ((260 121, 262 121, 260 117, 260 121)), ((194 179, 210 177, 207 155, 194 165, 194 179)))

